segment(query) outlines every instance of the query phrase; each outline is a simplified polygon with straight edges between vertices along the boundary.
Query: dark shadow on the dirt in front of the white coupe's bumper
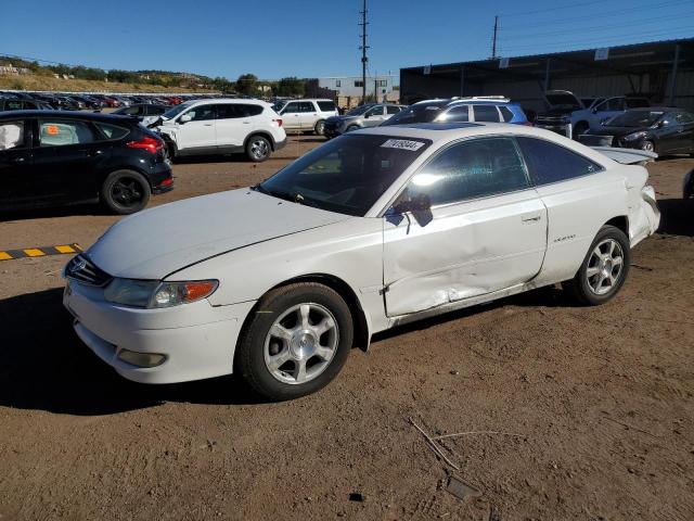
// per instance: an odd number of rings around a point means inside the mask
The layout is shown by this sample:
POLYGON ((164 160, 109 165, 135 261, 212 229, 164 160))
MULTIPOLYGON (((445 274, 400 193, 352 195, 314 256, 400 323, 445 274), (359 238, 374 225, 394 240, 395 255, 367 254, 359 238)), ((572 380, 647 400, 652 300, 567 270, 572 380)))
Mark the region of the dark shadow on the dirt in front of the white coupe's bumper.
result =
POLYGON ((72 321, 62 289, 0 301, 0 406, 92 416, 165 402, 259 403, 233 377, 172 385, 125 380, 81 343, 72 321))

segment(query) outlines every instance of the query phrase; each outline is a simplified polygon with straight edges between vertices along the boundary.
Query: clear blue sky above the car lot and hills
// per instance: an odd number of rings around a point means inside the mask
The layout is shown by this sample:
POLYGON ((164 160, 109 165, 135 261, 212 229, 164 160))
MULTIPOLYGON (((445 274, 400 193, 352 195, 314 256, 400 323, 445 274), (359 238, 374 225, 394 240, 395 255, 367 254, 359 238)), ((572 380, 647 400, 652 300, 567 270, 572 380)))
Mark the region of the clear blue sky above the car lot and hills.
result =
MULTIPOLYGON (((361 0, 23 2, 0 54, 235 79, 360 74, 361 0)), ((7 11, 7 10, 5 10, 7 11)), ((694 0, 369 0, 370 72, 694 36, 694 0)))

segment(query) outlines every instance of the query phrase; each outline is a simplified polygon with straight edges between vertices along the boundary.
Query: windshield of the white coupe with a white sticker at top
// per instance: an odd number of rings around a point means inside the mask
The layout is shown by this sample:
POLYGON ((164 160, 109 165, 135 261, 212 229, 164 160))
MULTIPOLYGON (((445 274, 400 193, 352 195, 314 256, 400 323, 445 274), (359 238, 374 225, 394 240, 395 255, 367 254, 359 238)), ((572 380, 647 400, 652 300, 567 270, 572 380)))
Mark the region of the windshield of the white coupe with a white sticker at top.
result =
POLYGON ((255 190, 362 217, 430 144, 427 139, 343 136, 287 165, 255 190))

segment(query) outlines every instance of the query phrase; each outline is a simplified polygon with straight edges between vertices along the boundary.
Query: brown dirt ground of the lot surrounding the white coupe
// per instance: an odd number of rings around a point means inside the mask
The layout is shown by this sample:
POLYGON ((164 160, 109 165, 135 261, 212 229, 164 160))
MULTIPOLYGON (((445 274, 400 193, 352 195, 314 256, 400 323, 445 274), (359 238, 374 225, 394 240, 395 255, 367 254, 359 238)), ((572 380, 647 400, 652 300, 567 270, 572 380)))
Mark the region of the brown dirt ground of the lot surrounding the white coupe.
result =
MULTIPOLYGON (((257 182, 318 142, 258 166, 178 164, 153 204, 257 182)), ((121 379, 72 331, 67 256, 1 262, 0 519, 694 519, 694 204, 680 200, 693 167, 650 167, 661 229, 609 304, 544 289, 400 328, 282 404, 233 377, 121 379), (438 442, 460 470, 410 420, 466 433, 438 442), (450 475, 477 493, 447 492, 450 475)), ((0 250, 89 246, 116 220, 0 219, 0 250)))

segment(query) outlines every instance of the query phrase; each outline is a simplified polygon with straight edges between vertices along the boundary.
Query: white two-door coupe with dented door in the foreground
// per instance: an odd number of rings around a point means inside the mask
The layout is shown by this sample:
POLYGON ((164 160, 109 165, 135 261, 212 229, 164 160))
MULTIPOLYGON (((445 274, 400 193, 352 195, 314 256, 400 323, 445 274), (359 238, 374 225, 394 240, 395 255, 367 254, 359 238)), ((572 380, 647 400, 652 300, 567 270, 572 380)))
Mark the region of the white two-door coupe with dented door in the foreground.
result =
POLYGON ((556 282, 615 296, 658 226, 632 164, 653 155, 519 125, 350 132, 256 187, 120 220, 66 266, 64 304, 125 378, 237 372, 294 398, 397 325, 556 282))

